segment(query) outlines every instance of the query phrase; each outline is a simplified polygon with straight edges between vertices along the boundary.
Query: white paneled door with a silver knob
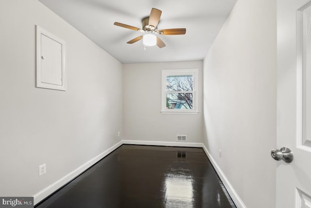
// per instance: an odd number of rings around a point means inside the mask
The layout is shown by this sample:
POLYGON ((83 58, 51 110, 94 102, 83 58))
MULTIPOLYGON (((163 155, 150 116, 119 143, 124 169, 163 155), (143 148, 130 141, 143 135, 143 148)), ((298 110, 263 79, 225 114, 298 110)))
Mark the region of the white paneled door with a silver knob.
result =
POLYGON ((277 0, 276 208, 311 208, 311 0, 277 0))

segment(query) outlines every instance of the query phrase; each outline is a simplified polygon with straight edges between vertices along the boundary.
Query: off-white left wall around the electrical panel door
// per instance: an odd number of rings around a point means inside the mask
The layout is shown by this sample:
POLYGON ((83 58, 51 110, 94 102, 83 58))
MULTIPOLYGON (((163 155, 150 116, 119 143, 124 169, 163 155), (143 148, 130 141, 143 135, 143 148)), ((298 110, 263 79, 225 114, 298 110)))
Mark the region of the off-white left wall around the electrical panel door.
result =
POLYGON ((121 63, 43 4, 1 0, 0 196, 33 196, 118 143, 121 83, 121 63), (67 43, 65 92, 35 88, 36 24, 67 43))

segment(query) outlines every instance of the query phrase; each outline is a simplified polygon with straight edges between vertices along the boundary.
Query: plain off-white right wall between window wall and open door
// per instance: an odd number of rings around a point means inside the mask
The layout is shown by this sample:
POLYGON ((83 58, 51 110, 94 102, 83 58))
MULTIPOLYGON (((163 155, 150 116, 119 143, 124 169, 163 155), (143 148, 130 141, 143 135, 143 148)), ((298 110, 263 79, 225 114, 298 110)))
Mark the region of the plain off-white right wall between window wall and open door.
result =
POLYGON ((204 143, 245 206, 274 208, 276 0, 237 1, 204 60, 204 122, 204 143))

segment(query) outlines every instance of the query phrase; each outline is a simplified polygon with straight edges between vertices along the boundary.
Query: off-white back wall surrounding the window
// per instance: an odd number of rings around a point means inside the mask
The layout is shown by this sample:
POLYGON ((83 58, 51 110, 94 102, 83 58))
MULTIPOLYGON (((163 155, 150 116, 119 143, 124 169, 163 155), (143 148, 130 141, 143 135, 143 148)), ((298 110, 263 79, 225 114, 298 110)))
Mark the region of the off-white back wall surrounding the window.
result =
POLYGON ((176 142, 186 134, 188 142, 202 143, 203 61, 123 65, 123 138, 176 142), (196 115, 161 114, 161 71, 199 69, 199 112, 196 115))

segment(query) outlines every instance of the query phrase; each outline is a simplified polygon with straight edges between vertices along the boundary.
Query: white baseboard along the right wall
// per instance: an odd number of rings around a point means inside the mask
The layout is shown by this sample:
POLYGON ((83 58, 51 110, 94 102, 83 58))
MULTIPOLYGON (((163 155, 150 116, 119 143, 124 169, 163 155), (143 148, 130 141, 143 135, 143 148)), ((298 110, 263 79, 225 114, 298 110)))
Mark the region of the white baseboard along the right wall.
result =
POLYGON ((225 188, 227 189, 229 195, 231 196, 234 204, 238 207, 238 208, 246 208, 246 206, 244 205, 242 199, 240 198, 240 196, 238 195, 238 193, 233 189, 232 185, 230 184, 229 180, 227 179, 227 177, 225 176, 225 173, 221 170, 221 168, 218 166, 218 164, 216 163, 216 161, 214 160, 214 158, 212 157, 212 155, 209 153, 209 151, 207 150, 207 148, 205 147, 204 144, 202 144, 202 148, 205 151, 205 153, 207 154, 207 157, 209 159, 209 161, 211 162, 211 164, 213 165, 214 169, 216 170, 218 176, 220 177, 220 179, 222 180, 225 188))

